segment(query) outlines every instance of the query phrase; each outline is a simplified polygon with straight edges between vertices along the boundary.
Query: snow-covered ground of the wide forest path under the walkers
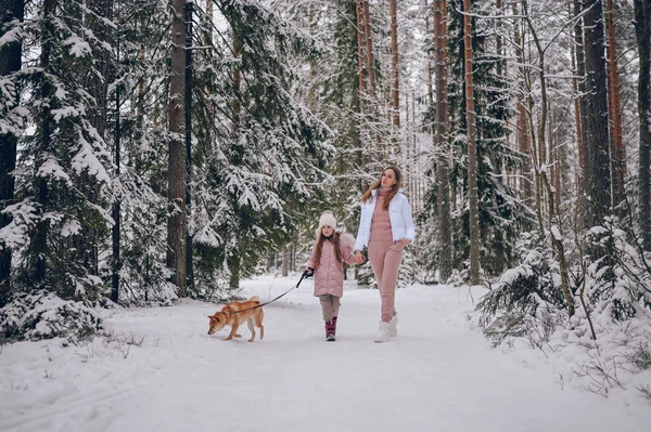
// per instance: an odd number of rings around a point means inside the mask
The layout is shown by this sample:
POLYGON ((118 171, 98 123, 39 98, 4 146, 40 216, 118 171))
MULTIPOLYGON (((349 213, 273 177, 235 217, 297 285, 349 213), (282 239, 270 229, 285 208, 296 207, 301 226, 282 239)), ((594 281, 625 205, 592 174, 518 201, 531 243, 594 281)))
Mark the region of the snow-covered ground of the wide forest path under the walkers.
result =
MULTIPOLYGON (((270 299, 297 278, 245 280, 243 293, 270 299)), ((221 306, 190 301, 104 311, 114 338, 86 345, 4 345, 0 430, 651 430, 639 392, 607 400, 567 383, 559 358, 492 349, 469 319, 468 287, 400 289, 399 336, 373 343, 376 290, 346 283, 337 341, 326 342, 311 284, 265 306, 265 339, 254 343, 246 328, 230 342, 226 329, 208 336, 206 316, 221 306)))

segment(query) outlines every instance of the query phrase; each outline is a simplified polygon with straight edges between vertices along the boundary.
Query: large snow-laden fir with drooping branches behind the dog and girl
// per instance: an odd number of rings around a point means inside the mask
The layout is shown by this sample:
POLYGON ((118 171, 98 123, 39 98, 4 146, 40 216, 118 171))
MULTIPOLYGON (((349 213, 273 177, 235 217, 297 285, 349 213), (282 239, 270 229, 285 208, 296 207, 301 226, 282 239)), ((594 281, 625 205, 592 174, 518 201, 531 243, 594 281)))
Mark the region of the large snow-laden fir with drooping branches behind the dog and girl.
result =
POLYGON ((218 56, 214 67, 200 53, 195 58, 206 65, 195 83, 210 90, 194 96, 203 121, 193 131, 193 240, 205 264, 197 272, 217 274, 226 265, 237 288, 291 236, 311 195, 306 183, 323 176, 327 132, 293 93, 298 74, 289 58, 314 55, 311 41, 258 4, 215 5, 228 28, 209 51, 218 56))

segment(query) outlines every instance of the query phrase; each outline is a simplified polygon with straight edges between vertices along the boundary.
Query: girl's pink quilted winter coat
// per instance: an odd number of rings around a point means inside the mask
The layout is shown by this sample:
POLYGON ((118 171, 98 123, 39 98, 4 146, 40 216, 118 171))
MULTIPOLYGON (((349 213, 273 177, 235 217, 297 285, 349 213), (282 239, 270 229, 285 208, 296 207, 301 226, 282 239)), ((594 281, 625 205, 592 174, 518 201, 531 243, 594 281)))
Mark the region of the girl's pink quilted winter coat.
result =
MULTIPOLYGON (((348 264, 356 264, 355 256, 353 256, 353 247, 355 246, 355 237, 348 233, 340 233, 340 248, 342 258, 348 264)), ((307 261, 306 266, 315 269, 315 297, 319 296, 344 296, 344 270, 341 262, 336 262, 334 247, 332 241, 324 240, 321 248, 321 263, 317 267, 315 265, 316 248, 312 248, 311 256, 307 261)))

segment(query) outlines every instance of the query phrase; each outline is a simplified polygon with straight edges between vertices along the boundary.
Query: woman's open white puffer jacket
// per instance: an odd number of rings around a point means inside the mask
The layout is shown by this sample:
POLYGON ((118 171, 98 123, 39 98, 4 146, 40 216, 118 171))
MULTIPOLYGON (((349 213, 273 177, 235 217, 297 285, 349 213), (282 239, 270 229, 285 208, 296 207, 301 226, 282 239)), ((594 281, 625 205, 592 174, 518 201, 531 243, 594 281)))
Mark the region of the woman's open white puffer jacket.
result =
MULTIPOLYGON (((369 246, 369 237, 371 236, 371 220, 378 201, 378 189, 371 191, 371 199, 361 204, 361 217, 359 220, 359 231, 357 232, 357 240, 355 241, 354 250, 362 250, 365 246, 369 246)), ((408 238, 412 243, 416 239, 416 230, 413 219, 411 218, 411 207, 407 197, 398 192, 388 202, 388 219, 391 221, 391 233, 393 240, 397 241, 403 238, 408 238)))

